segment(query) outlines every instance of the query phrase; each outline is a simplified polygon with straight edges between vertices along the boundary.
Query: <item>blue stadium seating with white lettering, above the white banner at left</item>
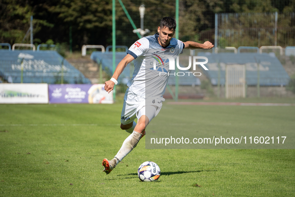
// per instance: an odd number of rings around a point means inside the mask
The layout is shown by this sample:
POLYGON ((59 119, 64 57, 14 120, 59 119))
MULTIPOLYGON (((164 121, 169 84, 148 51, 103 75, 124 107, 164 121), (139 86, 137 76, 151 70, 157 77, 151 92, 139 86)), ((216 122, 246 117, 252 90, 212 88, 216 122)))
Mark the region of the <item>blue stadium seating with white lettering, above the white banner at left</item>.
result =
POLYGON ((21 82, 21 61, 24 83, 57 83, 62 75, 64 83, 91 83, 53 50, 0 50, 0 76, 8 82, 21 82))

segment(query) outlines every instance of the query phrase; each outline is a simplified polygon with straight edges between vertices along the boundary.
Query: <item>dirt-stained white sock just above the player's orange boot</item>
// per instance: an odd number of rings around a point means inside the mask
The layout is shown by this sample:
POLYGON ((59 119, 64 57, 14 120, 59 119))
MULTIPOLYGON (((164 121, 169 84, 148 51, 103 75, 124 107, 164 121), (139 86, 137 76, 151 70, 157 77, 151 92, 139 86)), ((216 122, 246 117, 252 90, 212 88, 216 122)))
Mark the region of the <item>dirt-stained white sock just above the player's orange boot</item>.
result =
POLYGON ((122 159, 129 153, 133 148, 136 147, 138 141, 140 140, 142 134, 136 131, 133 131, 123 142, 120 150, 116 154, 115 158, 119 159, 120 162, 122 159))

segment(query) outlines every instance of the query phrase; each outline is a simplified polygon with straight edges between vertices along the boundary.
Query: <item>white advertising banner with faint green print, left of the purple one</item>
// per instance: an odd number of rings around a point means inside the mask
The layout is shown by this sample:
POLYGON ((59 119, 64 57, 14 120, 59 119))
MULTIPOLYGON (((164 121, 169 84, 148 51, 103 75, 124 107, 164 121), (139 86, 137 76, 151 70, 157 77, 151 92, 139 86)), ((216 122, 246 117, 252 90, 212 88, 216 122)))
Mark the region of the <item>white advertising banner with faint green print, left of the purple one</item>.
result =
POLYGON ((2 83, 0 103, 48 103, 48 84, 2 83))

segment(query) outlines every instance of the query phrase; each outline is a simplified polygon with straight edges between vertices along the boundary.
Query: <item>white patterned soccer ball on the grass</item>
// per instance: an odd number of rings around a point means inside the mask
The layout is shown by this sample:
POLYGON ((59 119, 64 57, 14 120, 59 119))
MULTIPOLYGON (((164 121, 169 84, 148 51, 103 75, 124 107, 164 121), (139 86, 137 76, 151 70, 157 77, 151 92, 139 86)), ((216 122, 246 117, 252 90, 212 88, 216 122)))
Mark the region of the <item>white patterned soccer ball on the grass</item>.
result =
POLYGON ((157 163, 145 161, 138 167, 137 173, 141 181, 154 181, 160 177, 161 170, 157 163))

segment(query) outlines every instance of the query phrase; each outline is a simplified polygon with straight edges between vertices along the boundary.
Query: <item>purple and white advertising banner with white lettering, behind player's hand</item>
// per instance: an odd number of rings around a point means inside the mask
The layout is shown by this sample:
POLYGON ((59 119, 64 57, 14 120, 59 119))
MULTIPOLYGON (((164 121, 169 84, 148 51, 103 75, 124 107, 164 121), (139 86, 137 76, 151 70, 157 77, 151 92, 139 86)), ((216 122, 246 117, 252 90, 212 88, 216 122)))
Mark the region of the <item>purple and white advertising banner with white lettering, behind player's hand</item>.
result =
POLYGON ((49 84, 49 103, 113 103, 104 84, 49 84))

